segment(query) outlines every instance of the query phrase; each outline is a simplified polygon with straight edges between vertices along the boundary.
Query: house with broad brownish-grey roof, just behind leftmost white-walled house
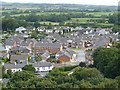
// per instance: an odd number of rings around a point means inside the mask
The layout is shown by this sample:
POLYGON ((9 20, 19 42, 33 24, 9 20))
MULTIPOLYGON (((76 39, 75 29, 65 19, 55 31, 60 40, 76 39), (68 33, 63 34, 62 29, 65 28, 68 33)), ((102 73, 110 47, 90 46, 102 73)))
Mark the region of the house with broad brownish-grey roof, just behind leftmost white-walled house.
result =
POLYGON ((19 54, 19 55, 11 55, 10 62, 11 63, 24 63, 28 61, 28 54, 19 54))

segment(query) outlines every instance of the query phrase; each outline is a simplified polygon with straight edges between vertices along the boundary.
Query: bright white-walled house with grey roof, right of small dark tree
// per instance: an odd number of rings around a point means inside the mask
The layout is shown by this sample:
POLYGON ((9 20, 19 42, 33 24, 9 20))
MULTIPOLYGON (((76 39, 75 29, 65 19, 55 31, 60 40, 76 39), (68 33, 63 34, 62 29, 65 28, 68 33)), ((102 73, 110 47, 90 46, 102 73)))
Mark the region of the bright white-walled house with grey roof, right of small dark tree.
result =
POLYGON ((36 72, 48 72, 53 69, 53 64, 51 62, 38 62, 32 65, 36 72))

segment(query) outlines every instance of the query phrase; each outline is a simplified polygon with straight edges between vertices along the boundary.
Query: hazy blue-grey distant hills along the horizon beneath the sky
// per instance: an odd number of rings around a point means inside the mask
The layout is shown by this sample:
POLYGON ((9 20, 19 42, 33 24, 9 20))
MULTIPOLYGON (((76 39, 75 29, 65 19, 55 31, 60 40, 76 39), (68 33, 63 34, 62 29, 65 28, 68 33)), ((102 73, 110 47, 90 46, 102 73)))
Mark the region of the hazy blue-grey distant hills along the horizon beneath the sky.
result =
POLYGON ((1 2, 2 7, 8 7, 8 8, 23 8, 23 7, 34 7, 34 8, 67 8, 67 9, 97 9, 97 10, 116 10, 118 6, 105 6, 105 5, 83 5, 83 4, 48 4, 48 3, 7 3, 7 2, 1 2))

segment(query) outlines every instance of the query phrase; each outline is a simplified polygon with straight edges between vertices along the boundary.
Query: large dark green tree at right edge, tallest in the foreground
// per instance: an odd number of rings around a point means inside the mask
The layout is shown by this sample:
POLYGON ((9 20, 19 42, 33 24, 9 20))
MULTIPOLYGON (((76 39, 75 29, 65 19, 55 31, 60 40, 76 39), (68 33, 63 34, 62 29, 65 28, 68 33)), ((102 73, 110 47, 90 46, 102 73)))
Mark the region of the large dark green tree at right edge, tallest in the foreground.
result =
POLYGON ((94 67, 106 77, 115 78, 120 75, 120 61, 117 48, 98 48, 93 53, 94 67))

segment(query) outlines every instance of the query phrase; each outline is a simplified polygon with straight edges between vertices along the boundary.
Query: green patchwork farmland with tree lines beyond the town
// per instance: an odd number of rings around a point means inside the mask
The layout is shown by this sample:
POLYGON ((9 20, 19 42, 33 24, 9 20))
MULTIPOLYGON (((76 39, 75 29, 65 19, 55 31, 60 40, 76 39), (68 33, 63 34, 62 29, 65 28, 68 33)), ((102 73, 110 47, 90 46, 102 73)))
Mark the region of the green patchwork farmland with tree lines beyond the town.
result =
POLYGON ((1 18, 14 18, 41 25, 83 25, 95 27, 112 27, 109 16, 117 11, 117 7, 67 5, 67 4, 5 4, 1 18), (17 6, 17 8, 16 8, 17 6), (89 9, 91 8, 91 9, 89 9), (99 9, 100 8, 100 9, 99 9))

